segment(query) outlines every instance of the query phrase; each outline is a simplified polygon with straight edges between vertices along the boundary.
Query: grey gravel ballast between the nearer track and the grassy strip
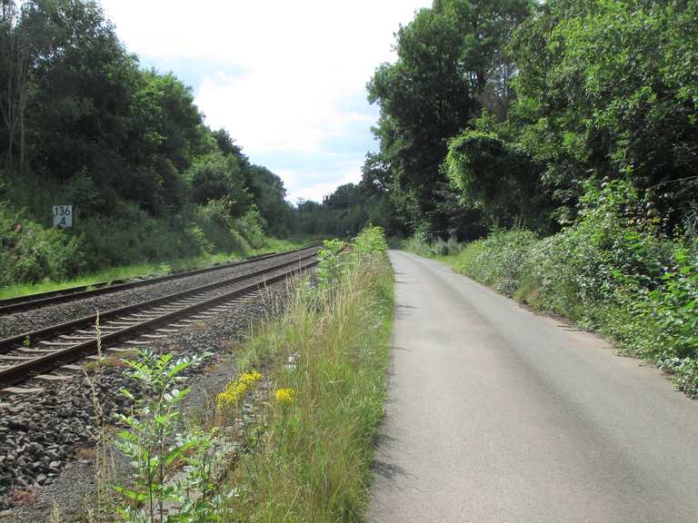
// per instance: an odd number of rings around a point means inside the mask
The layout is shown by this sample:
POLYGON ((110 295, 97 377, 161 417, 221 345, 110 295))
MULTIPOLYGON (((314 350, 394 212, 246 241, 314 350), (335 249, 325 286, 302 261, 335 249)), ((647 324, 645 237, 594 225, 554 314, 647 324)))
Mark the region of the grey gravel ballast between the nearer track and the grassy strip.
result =
MULTIPOLYGON (((286 282, 276 283, 264 291, 263 299, 246 298, 213 319, 154 341, 154 350, 177 355, 213 353, 204 365, 188 370, 192 392, 186 410, 205 409, 210 398, 234 378, 230 349, 235 340, 243 340, 254 322, 278 311, 287 291, 286 282)), ((106 415, 127 408, 118 393, 123 387, 135 388, 123 368, 105 367, 98 389, 106 415)), ((76 375, 35 396, 0 401, 5 401, 0 403, 0 521, 51 521, 54 506, 64 518, 79 515, 85 496, 95 489, 92 454, 97 434, 85 376, 76 375)), ((124 459, 113 459, 117 473, 125 473, 124 459)))

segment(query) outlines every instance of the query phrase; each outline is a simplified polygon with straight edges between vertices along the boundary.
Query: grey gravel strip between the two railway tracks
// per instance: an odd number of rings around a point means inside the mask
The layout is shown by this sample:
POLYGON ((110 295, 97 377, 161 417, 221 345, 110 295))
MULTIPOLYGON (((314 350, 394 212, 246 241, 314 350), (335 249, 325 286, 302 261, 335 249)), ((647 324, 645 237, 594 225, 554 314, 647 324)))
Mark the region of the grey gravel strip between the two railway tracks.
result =
POLYGON ((26 331, 44 329, 56 323, 75 320, 84 316, 95 314, 95 311, 108 311, 126 305, 133 305, 140 301, 154 300, 167 294, 186 291, 193 287, 220 281, 224 278, 234 278, 250 272, 259 271, 266 267, 272 267, 279 263, 296 260, 304 252, 294 252, 279 256, 271 260, 248 263, 239 267, 229 267, 220 271, 206 272, 195 276, 189 276, 181 280, 163 281, 152 285, 145 285, 135 289, 117 291, 113 294, 104 294, 93 298, 85 298, 77 301, 66 301, 55 305, 47 305, 33 311, 19 311, 0 317, 0 338, 15 336, 26 331))

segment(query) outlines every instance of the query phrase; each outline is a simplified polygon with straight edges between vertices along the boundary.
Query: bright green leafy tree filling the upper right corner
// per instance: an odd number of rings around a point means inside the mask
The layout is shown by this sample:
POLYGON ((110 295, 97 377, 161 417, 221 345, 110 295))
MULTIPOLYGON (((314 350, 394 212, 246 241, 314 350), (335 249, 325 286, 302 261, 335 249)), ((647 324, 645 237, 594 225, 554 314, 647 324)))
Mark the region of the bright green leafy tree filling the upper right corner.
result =
POLYGON ((698 176, 698 2, 550 0, 514 35, 516 140, 562 220, 583 182, 654 188, 670 222, 698 176))

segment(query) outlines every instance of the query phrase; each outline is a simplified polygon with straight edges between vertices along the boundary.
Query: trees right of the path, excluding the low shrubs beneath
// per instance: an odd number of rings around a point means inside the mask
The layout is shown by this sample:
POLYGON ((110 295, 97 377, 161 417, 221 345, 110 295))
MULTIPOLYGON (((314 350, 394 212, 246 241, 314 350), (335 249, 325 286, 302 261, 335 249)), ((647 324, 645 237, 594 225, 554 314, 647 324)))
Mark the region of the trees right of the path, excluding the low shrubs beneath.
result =
POLYGON ((698 187, 696 27, 694 0, 436 0, 368 84, 381 150, 364 183, 430 240, 554 232, 605 178, 682 230, 698 187))

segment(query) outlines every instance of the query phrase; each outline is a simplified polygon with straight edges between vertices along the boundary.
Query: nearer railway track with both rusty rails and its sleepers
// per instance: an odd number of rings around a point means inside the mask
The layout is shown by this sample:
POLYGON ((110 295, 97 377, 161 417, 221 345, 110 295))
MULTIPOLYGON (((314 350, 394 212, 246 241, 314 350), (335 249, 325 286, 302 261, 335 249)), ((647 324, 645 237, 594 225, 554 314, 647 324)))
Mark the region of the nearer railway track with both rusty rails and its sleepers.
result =
POLYGON ((226 304, 306 271, 315 265, 317 250, 302 250, 306 252, 293 261, 242 276, 0 340, 0 388, 4 393, 22 392, 12 386, 29 378, 70 380, 70 374, 81 369, 71 363, 95 353, 98 344, 110 345, 105 350, 110 356, 138 350, 190 323, 223 312, 226 304), (113 346, 116 342, 120 346, 113 346), (46 371, 53 372, 42 374, 46 371))

